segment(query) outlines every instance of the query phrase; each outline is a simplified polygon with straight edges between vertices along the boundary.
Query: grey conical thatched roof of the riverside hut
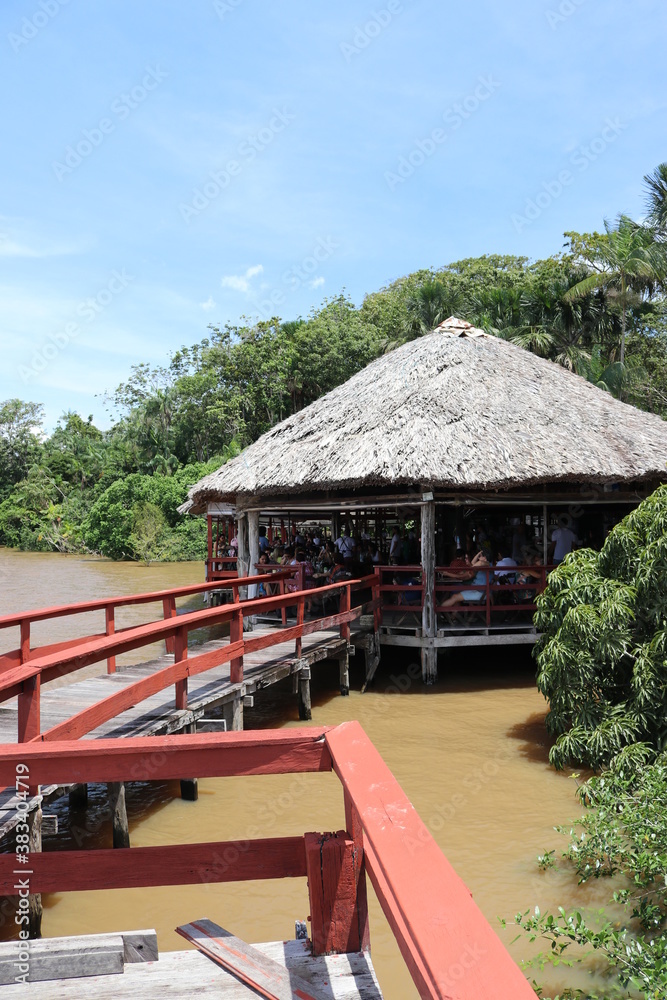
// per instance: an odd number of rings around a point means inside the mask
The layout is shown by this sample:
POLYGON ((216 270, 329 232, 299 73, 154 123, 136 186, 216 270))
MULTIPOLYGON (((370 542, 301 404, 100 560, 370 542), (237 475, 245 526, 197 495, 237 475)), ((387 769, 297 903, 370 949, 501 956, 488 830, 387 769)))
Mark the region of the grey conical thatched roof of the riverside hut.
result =
POLYGON ((452 318, 277 424, 193 486, 186 508, 399 484, 630 482, 666 463, 660 417, 452 318))

